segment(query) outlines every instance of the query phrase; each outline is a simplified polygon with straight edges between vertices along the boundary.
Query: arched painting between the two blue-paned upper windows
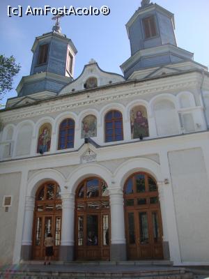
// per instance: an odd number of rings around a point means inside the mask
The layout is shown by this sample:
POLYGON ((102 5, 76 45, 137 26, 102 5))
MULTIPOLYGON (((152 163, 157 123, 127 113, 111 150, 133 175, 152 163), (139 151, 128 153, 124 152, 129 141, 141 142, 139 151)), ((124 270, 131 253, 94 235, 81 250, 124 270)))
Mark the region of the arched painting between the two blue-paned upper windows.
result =
POLYGON ((84 117, 82 121, 82 139, 97 136, 97 119, 94 115, 84 117))

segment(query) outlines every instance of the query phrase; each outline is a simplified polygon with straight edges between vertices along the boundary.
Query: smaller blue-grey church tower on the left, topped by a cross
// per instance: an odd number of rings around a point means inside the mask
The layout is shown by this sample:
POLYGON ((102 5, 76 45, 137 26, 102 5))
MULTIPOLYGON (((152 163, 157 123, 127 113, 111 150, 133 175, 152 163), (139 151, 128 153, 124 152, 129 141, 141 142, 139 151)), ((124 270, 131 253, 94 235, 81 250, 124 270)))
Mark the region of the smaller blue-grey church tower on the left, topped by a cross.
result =
POLYGON ((61 33, 59 17, 52 32, 36 37, 33 43, 31 73, 22 77, 17 86, 18 97, 48 98, 56 96, 65 84, 73 80, 77 49, 72 40, 61 33), (36 95, 34 95, 36 94, 36 95))

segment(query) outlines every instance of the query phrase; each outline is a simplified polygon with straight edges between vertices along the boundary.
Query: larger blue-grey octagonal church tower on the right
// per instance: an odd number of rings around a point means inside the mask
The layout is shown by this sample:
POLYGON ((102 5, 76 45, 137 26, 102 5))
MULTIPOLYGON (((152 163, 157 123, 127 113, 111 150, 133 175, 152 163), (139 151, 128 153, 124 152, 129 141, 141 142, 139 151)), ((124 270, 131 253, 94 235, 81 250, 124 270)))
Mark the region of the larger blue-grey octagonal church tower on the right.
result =
POLYGON ((131 49, 130 58, 121 66, 126 79, 138 70, 193 60, 192 53, 176 44, 173 13, 150 0, 141 1, 126 29, 131 49))

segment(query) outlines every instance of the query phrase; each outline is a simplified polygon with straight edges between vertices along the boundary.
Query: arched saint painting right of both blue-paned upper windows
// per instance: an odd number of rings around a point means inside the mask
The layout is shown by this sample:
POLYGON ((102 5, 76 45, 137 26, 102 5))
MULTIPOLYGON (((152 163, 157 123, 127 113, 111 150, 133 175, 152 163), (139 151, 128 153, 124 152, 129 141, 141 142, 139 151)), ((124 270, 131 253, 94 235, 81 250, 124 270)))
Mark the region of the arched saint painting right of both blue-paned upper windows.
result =
POLYGON ((132 108, 130 111, 130 125, 132 139, 149 136, 148 116, 145 107, 138 105, 132 108))

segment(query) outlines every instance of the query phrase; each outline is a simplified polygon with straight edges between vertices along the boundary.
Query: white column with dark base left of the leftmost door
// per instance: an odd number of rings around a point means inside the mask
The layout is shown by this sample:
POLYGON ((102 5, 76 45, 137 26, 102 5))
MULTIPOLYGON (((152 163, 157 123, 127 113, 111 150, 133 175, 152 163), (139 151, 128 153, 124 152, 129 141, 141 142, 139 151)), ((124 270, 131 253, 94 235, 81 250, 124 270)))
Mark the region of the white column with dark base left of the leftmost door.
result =
POLYGON ((32 256, 32 229, 35 197, 26 197, 24 206, 24 227, 22 234, 21 259, 30 260, 32 256))

